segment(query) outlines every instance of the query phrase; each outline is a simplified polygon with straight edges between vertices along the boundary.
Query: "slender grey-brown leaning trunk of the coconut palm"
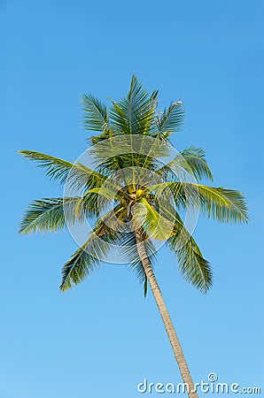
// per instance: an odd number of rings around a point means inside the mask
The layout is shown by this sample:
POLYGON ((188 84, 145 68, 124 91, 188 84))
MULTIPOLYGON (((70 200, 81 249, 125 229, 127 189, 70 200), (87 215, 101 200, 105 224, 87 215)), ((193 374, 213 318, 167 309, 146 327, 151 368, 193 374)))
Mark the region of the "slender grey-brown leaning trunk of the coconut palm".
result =
POLYGON ((146 250, 145 250, 145 246, 144 246, 144 239, 142 238, 141 233, 138 231, 136 231, 136 246, 137 246, 138 255, 140 256, 142 264, 144 266, 144 272, 145 272, 146 277, 150 283, 154 299, 159 308, 160 316, 165 325, 168 339, 173 348, 173 351, 175 354, 175 359, 177 361, 180 372, 182 374, 183 383, 186 383, 186 390, 188 391, 189 397, 190 398, 198 398, 198 394, 194 391, 193 381, 191 379, 190 371, 189 371, 188 365, 186 363, 185 357, 183 356, 180 341, 178 340, 178 337, 175 333, 175 327, 174 327, 174 325, 171 321, 171 318, 169 316, 166 304, 163 300, 163 297, 162 297, 160 289, 159 289, 157 279, 155 278, 154 272, 151 267, 151 263, 146 254, 146 250))

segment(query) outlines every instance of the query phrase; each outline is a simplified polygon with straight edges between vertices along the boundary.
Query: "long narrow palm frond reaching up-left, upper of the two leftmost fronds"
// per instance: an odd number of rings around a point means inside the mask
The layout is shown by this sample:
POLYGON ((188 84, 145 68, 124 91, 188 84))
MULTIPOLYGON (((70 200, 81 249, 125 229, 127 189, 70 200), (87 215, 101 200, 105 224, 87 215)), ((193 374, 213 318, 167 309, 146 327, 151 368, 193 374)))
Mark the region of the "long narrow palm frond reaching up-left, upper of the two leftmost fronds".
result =
POLYGON ((72 188, 95 188, 100 187, 105 176, 95 172, 81 163, 70 163, 58 157, 51 157, 33 150, 20 150, 19 154, 29 160, 34 160, 38 166, 46 168, 46 175, 50 180, 59 180, 60 184, 65 184, 66 180, 72 188))

